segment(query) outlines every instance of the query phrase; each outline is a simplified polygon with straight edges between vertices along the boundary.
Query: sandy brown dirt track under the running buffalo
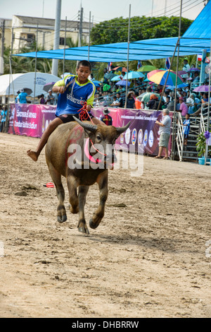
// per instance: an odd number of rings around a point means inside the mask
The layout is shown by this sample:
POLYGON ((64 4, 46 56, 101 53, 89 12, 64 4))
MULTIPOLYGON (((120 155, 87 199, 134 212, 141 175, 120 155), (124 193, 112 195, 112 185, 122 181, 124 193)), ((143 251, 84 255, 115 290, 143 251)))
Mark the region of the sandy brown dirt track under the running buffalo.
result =
MULTIPOLYGON (((141 177, 109 172, 89 236, 56 221, 38 139, 0 134, 1 317, 210 317, 211 167, 144 157, 141 177)), ((65 185, 65 206, 68 191, 65 185)), ((87 224, 98 206, 89 189, 87 224)))

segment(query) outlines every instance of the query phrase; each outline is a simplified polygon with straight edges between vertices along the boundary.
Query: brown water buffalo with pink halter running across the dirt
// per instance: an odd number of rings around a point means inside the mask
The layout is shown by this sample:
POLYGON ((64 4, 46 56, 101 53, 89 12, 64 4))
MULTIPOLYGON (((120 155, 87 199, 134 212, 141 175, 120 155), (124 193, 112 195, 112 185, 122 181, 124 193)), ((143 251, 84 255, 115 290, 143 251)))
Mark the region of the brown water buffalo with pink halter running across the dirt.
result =
POLYGON ((95 229, 101 223, 108 198, 108 163, 115 162, 115 141, 128 127, 129 124, 120 128, 105 124, 94 125, 75 118, 75 121, 61 124, 53 131, 46 144, 46 162, 56 185, 59 223, 67 220, 62 175, 68 183, 70 212, 79 212, 79 232, 89 234, 84 206, 89 186, 95 183, 99 187, 100 203, 89 221, 89 226, 95 229), (101 146, 101 150, 96 151, 96 146, 101 146), (80 153, 77 153, 77 150, 80 153), (100 157, 95 158, 96 155, 100 157))

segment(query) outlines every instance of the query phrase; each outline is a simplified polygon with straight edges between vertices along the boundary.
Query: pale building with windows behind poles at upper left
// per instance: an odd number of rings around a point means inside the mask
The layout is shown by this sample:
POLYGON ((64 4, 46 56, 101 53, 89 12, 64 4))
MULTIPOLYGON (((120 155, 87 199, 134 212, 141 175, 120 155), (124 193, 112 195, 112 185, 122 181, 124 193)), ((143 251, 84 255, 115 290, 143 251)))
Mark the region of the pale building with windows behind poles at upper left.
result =
MULTIPOLYGON (((30 47, 37 40, 37 45, 42 49, 53 49, 55 20, 51 18, 34 18, 13 15, 12 20, 0 18, 0 47, 4 38, 4 45, 11 47, 13 54, 19 53, 22 47, 30 47), (4 26, 3 26, 4 23, 4 26)), ((66 38, 71 38, 77 43, 79 38, 79 21, 60 20, 60 49, 65 45, 66 38), (66 29, 65 29, 66 25, 66 29)), ((89 22, 82 23, 82 41, 89 42, 89 22)), ((68 47, 66 45, 66 47, 68 47)), ((0 48, 1 49, 1 48, 0 48)))

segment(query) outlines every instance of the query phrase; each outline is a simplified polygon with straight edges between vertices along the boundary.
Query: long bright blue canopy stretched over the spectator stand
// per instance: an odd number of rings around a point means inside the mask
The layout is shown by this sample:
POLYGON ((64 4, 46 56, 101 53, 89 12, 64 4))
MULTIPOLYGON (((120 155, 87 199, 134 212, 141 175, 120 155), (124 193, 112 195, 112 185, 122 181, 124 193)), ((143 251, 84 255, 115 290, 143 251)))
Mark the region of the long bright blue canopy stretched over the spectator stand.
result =
MULTIPOLYGON (((203 11, 200 12, 196 20, 180 38, 179 56, 190 54, 201 54, 203 49, 210 52, 211 34, 211 1, 207 3, 203 11)), ((151 40, 139 40, 129 42, 129 61, 163 59, 172 57, 177 45, 178 37, 158 38, 151 40)), ((127 61, 127 42, 117 42, 113 44, 91 45, 90 47, 72 47, 65 49, 65 60, 83 60, 98 62, 127 61)), ((64 49, 53 49, 51 51, 29 52, 13 54, 19 57, 37 57, 46 59, 64 58, 64 49)), ((175 52, 177 57, 177 51, 175 52)))

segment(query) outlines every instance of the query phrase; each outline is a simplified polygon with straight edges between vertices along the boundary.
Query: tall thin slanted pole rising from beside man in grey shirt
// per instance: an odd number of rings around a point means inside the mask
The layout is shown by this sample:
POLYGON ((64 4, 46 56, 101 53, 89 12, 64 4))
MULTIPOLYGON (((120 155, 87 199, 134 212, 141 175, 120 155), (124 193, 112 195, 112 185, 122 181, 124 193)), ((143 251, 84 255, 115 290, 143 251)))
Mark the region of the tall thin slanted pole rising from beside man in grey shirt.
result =
POLYGON ((181 38, 181 11, 182 11, 182 0, 180 4, 180 16, 179 16, 179 36, 177 42, 177 71, 176 71, 176 82, 175 82, 175 90, 174 90, 174 118, 173 118, 173 130, 172 130, 172 160, 174 160, 175 155, 175 138, 176 138, 176 108, 177 108, 177 76, 179 69, 179 45, 181 38))

